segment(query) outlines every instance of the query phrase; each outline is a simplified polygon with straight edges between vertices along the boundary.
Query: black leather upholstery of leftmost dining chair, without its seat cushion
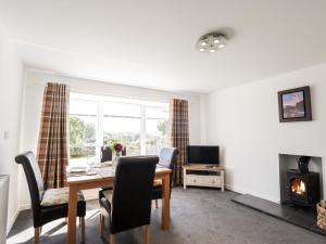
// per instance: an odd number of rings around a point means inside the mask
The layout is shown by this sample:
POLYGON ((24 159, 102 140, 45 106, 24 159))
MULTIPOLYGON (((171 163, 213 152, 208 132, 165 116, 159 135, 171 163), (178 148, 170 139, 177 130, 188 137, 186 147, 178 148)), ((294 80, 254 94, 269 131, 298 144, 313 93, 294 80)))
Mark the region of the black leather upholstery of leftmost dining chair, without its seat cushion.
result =
MULTIPOLYGON (((17 164, 23 165, 27 184, 29 189, 34 227, 41 227, 47 222, 53 221, 59 218, 67 217, 67 204, 43 207, 40 205, 45 188, 42 177, 39 170, 38 163, 33 152, 26 152, 15 157, 17 164)), ((82 193, 79 193, 82 194, 82 193)), ((86 202, 82 195, 82 200, 77 203, 77 216, 85 217, 86 202)))

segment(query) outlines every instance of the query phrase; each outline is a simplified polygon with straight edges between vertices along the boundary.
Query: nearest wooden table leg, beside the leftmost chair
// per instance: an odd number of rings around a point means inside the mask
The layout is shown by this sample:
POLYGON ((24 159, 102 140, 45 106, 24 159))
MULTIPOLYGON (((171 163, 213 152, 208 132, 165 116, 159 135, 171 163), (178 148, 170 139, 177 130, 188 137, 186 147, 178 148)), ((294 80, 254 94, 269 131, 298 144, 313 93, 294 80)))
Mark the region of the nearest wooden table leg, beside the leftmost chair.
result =
POLYGON ((67 244, 76 243, 77 187, 70 185, 67 244))

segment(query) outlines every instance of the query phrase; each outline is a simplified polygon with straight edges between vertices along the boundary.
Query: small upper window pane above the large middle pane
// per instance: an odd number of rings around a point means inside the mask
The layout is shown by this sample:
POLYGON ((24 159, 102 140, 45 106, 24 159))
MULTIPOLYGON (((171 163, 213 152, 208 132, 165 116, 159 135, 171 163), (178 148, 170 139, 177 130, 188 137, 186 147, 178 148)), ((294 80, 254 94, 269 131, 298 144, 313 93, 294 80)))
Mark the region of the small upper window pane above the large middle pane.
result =
POLYGON ((124 103, 104 103, 104 115, 140 117, 140 106, 124 103))

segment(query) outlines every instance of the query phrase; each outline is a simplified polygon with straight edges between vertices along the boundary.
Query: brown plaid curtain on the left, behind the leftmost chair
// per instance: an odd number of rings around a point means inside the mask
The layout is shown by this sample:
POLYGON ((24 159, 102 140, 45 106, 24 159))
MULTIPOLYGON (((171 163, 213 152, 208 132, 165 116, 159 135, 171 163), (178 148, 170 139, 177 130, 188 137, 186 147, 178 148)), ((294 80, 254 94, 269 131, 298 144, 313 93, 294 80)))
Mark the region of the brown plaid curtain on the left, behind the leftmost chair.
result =
POLYGON ((66 187, 68 101, 66 85, 47 84, 37 149, 46 189, 66 187))

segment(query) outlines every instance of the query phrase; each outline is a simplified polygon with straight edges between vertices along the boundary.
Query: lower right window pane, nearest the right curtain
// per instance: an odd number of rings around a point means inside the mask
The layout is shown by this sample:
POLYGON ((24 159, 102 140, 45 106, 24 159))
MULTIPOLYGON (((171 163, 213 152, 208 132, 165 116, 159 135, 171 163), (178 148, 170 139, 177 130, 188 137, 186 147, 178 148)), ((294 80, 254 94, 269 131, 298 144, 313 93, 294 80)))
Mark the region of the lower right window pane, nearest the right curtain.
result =
POLYGON ((168 146, 168 120, 146 119, 146 154, 160 154, 168 146))

